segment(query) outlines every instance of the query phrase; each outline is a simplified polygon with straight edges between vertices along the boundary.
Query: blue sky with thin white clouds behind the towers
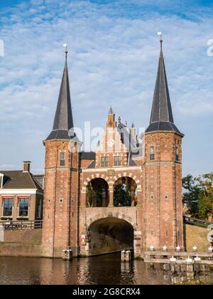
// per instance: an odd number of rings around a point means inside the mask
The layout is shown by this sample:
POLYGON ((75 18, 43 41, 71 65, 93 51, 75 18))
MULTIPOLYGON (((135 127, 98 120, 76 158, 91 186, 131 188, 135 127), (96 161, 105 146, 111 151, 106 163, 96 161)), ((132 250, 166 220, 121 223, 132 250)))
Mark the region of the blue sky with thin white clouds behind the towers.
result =
POLYGON ((159 41, 182 174, 213 170, 213 1, 0 0, 0 169, 43 173, 67 43, 75 126, 116 118, 148 127, 159 41), (2 43, 0 43, 1 45, 2 43), (1 52, 1 51, 0 51, 1 52))

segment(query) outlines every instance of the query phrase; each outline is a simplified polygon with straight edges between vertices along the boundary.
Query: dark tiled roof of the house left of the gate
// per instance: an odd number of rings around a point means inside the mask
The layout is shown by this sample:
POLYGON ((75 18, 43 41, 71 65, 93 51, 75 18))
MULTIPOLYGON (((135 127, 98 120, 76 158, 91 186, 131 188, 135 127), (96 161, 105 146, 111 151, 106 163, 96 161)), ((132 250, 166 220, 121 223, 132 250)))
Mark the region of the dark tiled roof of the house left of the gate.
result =
POLYGON ((38 182, 33 178, 31 172, 23 172, 23 170, 0 171, 8 179, 2 189, 38 189, 43 192, 38 182))

